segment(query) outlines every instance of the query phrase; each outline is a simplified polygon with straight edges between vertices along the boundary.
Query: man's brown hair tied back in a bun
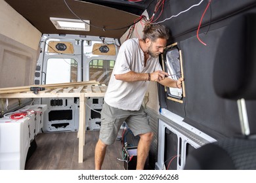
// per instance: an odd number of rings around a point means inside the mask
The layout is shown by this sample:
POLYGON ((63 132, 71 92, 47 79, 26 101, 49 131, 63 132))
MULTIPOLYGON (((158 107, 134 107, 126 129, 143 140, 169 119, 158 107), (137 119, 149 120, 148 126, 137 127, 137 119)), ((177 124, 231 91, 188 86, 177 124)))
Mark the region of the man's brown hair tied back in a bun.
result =
POLYGON ((169 39, 169 29, 161 24, 145 24, 143 33, 143 41, 146 41, 147 38, 153 42, 158 38, 169 39))

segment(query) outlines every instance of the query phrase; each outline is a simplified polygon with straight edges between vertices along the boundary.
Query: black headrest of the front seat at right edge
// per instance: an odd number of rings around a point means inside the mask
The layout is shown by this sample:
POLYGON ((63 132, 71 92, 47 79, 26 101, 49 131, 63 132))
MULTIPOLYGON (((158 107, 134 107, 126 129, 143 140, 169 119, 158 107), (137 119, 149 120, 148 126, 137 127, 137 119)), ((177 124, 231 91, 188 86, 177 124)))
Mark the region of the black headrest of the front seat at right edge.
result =
POLYGON ((256 14, 244 14, 224 29, 213 68, 213 87, 226 99, 256 99, 256 14))

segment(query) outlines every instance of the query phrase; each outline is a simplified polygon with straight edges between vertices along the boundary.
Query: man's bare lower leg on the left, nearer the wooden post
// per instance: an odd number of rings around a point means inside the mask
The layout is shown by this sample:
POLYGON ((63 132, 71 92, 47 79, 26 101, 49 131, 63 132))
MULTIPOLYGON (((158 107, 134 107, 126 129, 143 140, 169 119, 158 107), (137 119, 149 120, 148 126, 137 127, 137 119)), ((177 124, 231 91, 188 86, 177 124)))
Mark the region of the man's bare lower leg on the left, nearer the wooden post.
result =
POLYGON ((106 148, 108 145, 104 144, 100 139, 98 139, 98 142, 95 147, 95 170, 100 170, 102 163, 105 158, 106 154, 106 148))

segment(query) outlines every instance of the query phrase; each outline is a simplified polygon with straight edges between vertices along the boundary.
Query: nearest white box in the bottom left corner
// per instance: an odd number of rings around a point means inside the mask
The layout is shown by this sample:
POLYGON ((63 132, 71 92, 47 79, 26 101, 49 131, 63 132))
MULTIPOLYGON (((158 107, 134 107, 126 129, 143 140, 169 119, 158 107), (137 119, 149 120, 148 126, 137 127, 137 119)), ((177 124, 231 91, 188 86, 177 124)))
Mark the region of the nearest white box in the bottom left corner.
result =
POLYGON ((30 147, 30 118, 0 118, 0 169, 25 169, 30 147))

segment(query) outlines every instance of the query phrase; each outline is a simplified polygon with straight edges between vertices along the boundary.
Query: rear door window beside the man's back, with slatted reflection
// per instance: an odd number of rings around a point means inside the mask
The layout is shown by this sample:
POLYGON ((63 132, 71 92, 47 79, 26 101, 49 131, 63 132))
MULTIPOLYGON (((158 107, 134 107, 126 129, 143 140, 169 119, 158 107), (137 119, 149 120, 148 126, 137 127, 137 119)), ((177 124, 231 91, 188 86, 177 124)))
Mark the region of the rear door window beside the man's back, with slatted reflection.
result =
POLYGON ((90 78, 96 80, 100 84, 108 85, 110 76, 115 65, 114 60, 93 59, 89 63, 90 78))

